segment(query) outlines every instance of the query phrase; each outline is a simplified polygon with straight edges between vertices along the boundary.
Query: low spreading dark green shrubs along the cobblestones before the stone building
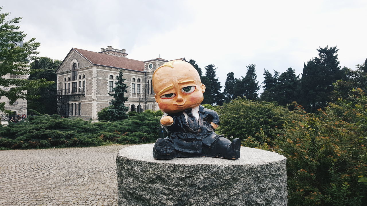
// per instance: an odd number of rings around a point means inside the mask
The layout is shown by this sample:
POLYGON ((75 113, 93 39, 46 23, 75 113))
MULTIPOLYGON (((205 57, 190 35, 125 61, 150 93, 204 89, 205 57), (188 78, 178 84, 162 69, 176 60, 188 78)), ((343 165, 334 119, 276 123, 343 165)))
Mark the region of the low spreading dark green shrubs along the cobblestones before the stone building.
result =
MULTIPOLYGON (((37 114, 34 111, 34 114, 37 114)), ((158 138, 161 112, 137 113, 115 122, 84 121, 59 115, 28 116, 28 121, 0 127, 0 147, 85 147, 111 143, 140 144, 158 138)))

